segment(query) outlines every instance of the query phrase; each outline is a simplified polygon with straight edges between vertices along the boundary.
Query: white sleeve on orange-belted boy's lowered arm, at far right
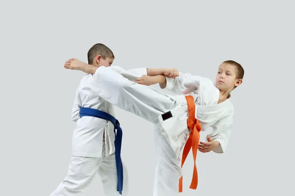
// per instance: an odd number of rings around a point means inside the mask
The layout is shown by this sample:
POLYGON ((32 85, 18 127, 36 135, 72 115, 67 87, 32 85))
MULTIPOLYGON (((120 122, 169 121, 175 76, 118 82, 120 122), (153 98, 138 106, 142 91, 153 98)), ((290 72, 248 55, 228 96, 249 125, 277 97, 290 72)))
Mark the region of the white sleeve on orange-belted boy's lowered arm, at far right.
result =
MULTIPOLYGON (((213 150, 216 153, 224 153, 226 151, 227 145, 229 143, 230 135, 232 132, 233 126, 233 115, 232 112, 230 115, 216 122, 212 126, 212 133, 208 134, 211 139, 220 143, 220 145, 213 150)), ((207 138, 206 136, 206 138, 207 138)))

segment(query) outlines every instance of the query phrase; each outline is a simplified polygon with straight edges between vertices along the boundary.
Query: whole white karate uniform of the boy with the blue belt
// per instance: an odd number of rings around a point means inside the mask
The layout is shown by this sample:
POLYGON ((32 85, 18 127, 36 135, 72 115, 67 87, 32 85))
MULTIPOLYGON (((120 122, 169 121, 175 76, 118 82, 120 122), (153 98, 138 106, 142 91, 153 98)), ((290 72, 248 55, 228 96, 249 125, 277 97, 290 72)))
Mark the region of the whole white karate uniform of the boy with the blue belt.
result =
MULTIPOLYGON (((125 76, 134 81, 136 77, 147 74, 147 68, 121 70, 121 73, 124 72, 132 73, 130 77, 128 74, 125 76)), ((67 176, 50 196, 82 196, 83 190, 92 182, 96 173, 101 177, 105 195, 119 196, 114 124, 96 117, 84 116, 80 118, 79 114, 81 107, 89 107, 115 117, 113 105, 98 97, 92 90, 92 84, 93 74, 87 74, 82 78, 76 91, 71 116, 71 119, 77 122, 73 132, 72 158, 67 176), (105 134, 105 138, 103 134, 105 134)), ((123 161, 122 164, 124 177, 122 196, 128 196, 128 173, 123 161)))

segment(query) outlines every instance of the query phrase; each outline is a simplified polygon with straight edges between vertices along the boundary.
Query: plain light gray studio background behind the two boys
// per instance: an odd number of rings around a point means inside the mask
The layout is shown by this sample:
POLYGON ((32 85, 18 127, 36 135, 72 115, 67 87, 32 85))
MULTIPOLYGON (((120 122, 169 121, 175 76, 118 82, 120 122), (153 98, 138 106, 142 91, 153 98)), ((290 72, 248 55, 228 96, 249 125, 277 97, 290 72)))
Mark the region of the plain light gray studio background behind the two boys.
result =
MULTIPOLYGON (((110 47, 113 65, 124 69, 176 68, 214 80, 222 61, 239 62, 245 76, 232 93, 236 113, 228 149, 198 152, 197 190, 188 188, 190 153, 181 195, 290 195, 295 182, 291 2, 1 1, 0 195, 49 196, 66 176, 75 128, 71 107, 84 73, 65 70, 63 63, 71 57, 87 62, 96 43, 110 47)), ((124 131, 130 196, 151 196, 153 126, 115 111, 124 131)), ((85 194, 103 195, 99 176, 85 194)))

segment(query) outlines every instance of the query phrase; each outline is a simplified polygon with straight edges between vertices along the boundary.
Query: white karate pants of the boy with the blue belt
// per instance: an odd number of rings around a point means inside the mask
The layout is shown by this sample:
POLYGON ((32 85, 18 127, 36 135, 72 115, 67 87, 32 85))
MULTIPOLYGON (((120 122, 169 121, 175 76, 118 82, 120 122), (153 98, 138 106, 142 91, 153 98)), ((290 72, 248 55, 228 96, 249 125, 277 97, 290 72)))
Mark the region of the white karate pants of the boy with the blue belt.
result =
MULTIPOLYGON (((99 174, 104 194, 97 196, 121 196, 117 191, 118 178, 115 153, 105 156, 105 141, 103 140, 102 157, 72 156, 67 176, 50 196, 85 196, 84 190, 89 187, 96 173, 99 174)), ((128 196, 128 173, 123 164, 122 196, 128 196)))

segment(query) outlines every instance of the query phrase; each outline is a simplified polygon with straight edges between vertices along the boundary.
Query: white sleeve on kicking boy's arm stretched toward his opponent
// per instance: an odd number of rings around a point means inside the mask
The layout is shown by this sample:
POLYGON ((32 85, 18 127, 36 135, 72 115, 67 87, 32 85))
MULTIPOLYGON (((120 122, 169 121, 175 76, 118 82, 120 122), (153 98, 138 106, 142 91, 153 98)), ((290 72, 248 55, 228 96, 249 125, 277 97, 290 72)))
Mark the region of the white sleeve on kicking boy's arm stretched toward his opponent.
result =
POLYGON ((191 73, 179 73, 175 79, 166 76, 166 87, 162 89, 177 95, 189 94, 193 91, 198 93, 201 78, 201 76, 191 75, 191 73))

